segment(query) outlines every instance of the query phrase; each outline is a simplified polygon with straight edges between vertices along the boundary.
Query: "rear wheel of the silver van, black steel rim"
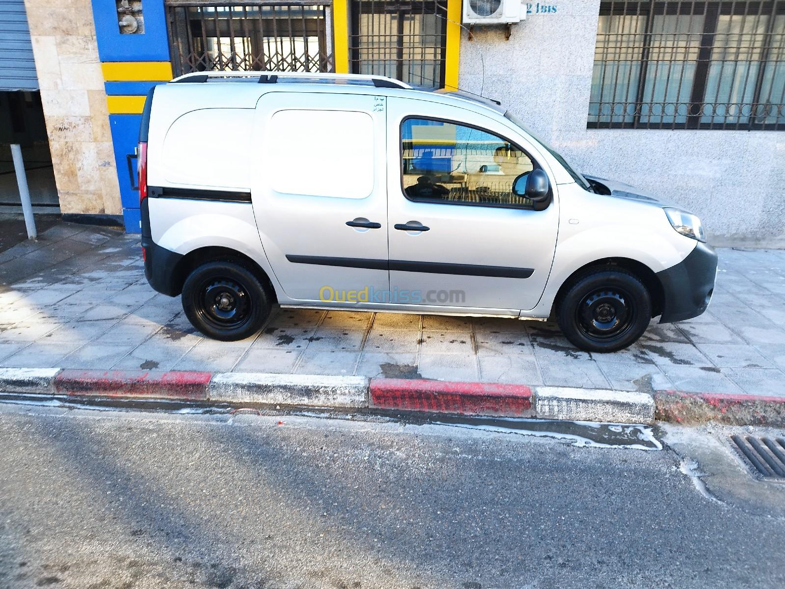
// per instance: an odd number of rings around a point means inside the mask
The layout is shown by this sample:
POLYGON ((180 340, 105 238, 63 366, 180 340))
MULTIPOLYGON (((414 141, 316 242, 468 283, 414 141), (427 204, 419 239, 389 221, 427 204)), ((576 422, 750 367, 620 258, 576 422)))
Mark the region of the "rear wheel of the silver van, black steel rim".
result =
POLYGON ((235 342, 254 335, 270 315, 270 296, 257 276, 235 262, 207 262, 183 284, 183 310, 208 338, 235 342))

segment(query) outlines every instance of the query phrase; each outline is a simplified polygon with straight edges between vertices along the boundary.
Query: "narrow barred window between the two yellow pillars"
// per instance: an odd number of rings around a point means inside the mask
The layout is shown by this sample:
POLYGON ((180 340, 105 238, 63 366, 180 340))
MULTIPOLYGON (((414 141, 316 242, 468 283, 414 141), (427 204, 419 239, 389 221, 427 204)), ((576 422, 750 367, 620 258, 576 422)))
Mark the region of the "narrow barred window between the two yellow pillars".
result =
POLYGON ((356 74, 441 87, 447 2, 353 0, 349 50, 356 74))

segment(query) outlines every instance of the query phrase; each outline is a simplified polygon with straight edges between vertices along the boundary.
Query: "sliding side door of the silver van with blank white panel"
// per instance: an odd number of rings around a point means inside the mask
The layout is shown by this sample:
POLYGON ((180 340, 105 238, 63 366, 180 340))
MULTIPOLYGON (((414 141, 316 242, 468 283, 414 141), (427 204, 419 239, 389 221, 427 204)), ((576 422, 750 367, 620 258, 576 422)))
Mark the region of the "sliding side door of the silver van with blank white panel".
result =
POLYGON ((389 289, 384 101, 272 91, 257 103, 254 215, 294 301, 373 302, 389 289))

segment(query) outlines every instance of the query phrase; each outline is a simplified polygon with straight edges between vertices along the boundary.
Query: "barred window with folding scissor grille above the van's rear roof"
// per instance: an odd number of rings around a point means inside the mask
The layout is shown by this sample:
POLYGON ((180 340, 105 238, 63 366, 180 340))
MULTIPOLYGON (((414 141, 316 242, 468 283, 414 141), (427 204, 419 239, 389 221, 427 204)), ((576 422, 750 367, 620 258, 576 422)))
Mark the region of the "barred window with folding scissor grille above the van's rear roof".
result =
POLYGON ((167 0, 176 75, 333 71, 331 5, 167 0))

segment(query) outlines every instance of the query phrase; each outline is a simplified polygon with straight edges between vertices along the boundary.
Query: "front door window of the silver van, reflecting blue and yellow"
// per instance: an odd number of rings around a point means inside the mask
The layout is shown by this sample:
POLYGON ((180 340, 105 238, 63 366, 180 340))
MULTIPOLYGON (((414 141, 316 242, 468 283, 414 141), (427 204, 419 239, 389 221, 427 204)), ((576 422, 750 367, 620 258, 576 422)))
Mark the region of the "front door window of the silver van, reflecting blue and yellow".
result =
POLYGON ((401 123, 407 199, 489 207, 532 207, 513 181, 535 164, 510 141, 485 130, 433 119, 401 123))

